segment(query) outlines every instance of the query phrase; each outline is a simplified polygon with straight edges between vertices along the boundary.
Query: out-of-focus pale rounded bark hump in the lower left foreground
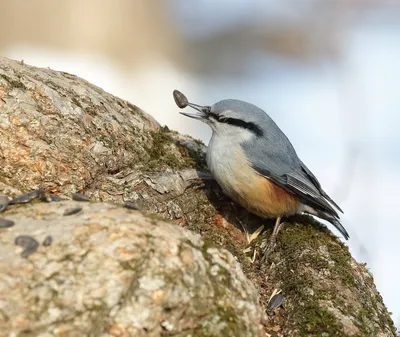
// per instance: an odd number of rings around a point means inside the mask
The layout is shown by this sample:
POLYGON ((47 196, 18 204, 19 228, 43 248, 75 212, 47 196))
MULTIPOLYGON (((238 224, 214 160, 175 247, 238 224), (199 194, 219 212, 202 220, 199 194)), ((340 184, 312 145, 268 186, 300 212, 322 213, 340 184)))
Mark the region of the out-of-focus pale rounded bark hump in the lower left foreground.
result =
POLYGON ((226 250, 106 203, 14 209, 0 234, 0 336, 257 336, 254 285, 226 250), (82 210, 65 216, 72 207, 82 210), (18 235, 43 242, 28 259, 18 235))

